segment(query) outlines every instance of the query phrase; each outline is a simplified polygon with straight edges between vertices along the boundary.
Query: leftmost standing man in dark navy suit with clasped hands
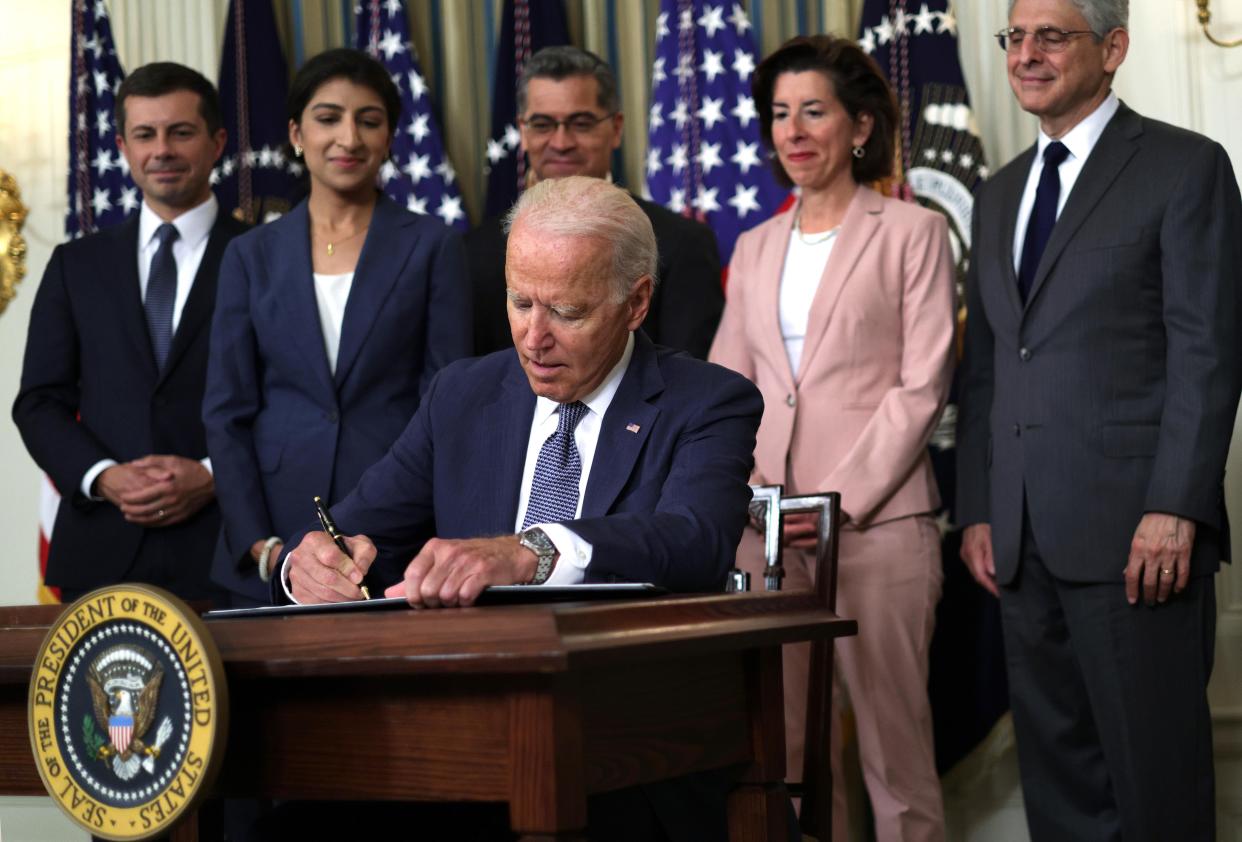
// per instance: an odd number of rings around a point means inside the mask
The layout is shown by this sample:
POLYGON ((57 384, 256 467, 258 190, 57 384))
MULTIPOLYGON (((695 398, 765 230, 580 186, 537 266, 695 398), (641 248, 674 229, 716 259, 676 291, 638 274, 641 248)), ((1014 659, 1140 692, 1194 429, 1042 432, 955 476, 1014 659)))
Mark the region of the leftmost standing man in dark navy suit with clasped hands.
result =
POLYGON ((225 243, 245 231, 209 184, 220 102, 200 73, 147 65, 117 92, 117 129, 142 211, 52 253, 12 417, 62 496, 48 585, 66 599, 117 581, 211 599, 207 328, 225 243))

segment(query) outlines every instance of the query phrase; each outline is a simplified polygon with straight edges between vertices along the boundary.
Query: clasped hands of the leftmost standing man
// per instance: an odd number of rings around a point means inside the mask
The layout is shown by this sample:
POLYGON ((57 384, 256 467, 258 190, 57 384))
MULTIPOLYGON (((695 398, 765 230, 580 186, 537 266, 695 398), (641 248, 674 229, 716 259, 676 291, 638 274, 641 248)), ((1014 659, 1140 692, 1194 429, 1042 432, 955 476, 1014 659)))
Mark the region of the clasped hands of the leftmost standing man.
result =
POLYGON ((216 491, 211 472, 184 456, 144 456, 113 464, 94 484, 125 520, 140 527, 181 523, 210 503, 216 491))

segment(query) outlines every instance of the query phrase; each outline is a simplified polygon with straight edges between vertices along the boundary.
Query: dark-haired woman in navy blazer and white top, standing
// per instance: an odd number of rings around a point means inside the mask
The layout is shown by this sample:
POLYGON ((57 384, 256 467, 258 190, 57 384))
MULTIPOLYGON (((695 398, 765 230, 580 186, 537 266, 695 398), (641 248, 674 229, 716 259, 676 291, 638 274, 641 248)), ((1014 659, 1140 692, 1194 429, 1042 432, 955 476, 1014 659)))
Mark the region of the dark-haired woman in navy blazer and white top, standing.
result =
POLYGON ((461 241, 375 188, 400 115, 363 52, 310 58, 289 91, 310 194, 233 241, 220 269, 204 422, 224 525, 212 579, 268 601, 267 561, 344 497, 472 346, 461 241))

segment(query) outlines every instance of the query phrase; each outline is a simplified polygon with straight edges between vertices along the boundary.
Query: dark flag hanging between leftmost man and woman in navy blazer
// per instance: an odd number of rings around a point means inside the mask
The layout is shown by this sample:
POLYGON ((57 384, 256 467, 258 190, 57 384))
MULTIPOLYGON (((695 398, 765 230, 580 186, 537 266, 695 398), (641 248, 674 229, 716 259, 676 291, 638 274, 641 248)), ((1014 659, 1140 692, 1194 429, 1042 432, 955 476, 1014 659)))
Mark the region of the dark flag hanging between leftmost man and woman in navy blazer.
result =
POLYGON ((267 222, 303 192, 302 163, 284 155, 288 68, 271 0, 230 0, 220 57, 220 106, 229 140, 211 170, 226 214, 267 222))

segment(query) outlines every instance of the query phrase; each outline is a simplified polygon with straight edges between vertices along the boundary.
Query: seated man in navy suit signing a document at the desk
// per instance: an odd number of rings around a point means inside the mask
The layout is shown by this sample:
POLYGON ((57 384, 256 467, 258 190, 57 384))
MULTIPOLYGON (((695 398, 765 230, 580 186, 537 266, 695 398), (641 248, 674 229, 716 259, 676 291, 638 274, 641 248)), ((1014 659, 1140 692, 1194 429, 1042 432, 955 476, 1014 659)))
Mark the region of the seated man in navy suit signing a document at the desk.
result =
MULTIPOLYGON (((746 523, 758 390, 638 330, 656 237, 627 192, 540 181, 510 220, 515 349, 437 374, 388 456, 333 507, 353 559, 323 532, 293 538, 274 596, 358 600, 364 577, 421 606, 518 582, 723 590, 746 523), (415 555, 428 525, 437 536, 415 555)), ((590 836, 723 840, 727 784, 713 771, 596 796, 590 836)))

